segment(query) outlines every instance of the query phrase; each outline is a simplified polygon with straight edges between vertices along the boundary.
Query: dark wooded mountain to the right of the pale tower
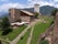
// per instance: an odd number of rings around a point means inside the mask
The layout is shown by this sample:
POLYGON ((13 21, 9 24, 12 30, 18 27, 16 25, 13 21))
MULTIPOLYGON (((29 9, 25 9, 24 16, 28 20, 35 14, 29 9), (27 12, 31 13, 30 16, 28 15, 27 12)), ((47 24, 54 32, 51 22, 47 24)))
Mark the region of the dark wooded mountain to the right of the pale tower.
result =
POLYGON ((49 15, 49 14, 51 13, 51 11, 53 11, 54 9, 57 9, 57 8, 49 7, 49 6, 44 6, 44 7, 40 7, 39 9, 40 9, 39 12, 40 12, 42 14, 49 15))

